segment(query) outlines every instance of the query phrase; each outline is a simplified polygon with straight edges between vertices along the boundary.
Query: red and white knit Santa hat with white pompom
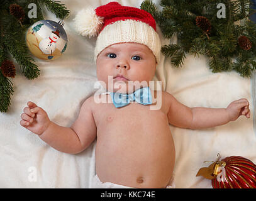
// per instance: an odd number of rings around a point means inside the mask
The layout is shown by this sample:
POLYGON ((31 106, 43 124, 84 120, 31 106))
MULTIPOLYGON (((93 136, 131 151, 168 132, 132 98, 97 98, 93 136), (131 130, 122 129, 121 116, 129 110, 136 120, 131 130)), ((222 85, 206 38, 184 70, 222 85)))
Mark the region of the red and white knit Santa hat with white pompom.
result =
POLYGON ((97 36, 94 60, 106 47, 116 43, 147 45, 160 62, 161 43, 155 19, 142 9, 111 2, 96 9, 83 9, 75 17, 75 29, 82 36, 97 36))

